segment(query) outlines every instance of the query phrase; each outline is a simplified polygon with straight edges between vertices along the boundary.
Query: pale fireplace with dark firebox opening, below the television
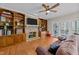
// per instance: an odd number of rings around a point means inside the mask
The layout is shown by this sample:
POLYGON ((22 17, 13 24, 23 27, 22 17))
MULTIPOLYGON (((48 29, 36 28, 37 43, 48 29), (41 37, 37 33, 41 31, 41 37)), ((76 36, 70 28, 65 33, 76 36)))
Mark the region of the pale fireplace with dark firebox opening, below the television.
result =
POLYGON ((38 26, 27 26, 26 28, 26 40, 38 39, 38 26))

